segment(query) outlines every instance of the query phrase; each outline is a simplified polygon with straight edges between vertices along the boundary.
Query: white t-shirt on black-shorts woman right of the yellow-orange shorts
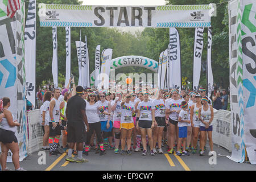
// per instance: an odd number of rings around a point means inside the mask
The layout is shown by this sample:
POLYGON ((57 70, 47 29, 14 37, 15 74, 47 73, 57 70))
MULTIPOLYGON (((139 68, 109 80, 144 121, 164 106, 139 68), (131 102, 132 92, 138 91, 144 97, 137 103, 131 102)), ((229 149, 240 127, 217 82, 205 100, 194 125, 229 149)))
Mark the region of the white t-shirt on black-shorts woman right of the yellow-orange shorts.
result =
POLYGON ((152 121, 152 109, 155 109, 153 102, 139 102, 137 106, 137 110, 141 111, 141 114, 139 115, 139 120, 152 121))

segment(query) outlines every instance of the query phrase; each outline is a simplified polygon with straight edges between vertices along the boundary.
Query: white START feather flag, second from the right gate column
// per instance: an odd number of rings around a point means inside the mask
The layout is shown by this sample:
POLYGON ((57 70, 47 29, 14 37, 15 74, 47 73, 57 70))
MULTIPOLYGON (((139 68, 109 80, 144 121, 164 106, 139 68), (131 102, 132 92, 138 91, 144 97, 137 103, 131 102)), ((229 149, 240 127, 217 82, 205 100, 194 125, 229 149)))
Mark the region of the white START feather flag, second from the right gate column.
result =
POLYGON ((195 28, 194 59, 193 59, 193 91, 199 89, 201 75, 201 59, 204 47, 204 28, 195 28))

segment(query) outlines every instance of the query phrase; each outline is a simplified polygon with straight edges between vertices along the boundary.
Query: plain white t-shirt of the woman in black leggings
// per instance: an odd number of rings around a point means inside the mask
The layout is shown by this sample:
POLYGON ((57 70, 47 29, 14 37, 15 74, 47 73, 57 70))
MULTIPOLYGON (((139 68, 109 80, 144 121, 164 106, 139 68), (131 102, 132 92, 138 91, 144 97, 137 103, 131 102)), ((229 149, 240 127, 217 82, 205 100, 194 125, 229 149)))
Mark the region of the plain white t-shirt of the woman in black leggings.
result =
POLYGON ((98 102, 96 102, 93 105, 90 105, 88 101, 86 101, 86 107, 85 107, 85 111, 86 111, 86 116, 87 116, 87 120, 88 123, 97 123, 100 122, 100 118, 98 117, 98 108, 100 107, 100 104, 98 104, 98 102))

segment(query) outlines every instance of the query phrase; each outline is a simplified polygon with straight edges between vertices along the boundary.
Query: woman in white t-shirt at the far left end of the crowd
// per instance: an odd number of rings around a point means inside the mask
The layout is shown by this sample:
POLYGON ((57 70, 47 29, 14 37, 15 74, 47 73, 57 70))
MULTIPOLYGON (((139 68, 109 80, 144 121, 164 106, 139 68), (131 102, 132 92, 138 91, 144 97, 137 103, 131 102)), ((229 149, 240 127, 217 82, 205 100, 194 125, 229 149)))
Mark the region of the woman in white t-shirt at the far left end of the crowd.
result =
POLYGON ((40 111, 42 111, 42 126, 44 127, 44 136, 43 136, 43 148, 42 150, 48 151, 48 139, 49 139, 49 103, 52 98, 52 93, 47 91, 44 93, 43 101, 44 104, 40 107, 40 111))

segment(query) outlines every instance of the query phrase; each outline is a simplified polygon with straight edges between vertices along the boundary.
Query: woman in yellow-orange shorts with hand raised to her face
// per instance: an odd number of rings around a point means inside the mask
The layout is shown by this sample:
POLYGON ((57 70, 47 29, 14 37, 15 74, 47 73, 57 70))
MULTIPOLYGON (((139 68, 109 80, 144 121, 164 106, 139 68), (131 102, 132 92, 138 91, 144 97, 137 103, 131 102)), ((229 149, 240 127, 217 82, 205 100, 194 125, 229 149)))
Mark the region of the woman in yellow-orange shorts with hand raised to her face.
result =
POLYGON ((121 155, 125 155, 125 141, 127 138, 127 155, 131 155, 131 134, 133 133, 134 122, 133 113, 134 104, 130 101, 131 94, 123 97, 121 102, 121 155))

